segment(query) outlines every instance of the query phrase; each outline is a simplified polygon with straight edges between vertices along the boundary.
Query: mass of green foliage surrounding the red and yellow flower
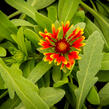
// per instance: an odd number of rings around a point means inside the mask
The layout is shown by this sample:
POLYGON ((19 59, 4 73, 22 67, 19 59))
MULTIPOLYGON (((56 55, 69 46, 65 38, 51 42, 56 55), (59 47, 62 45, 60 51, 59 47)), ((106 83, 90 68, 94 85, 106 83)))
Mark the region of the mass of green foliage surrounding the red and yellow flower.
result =
MULTIPOLYGON (((105 2, 5 0, 16 11, 7 16, 0 10, 0 109, 109 109, 109 0, 105 2), (39 45, 40 32, 52 32, 52 24, 57 29, 67 21, 73 26, 66 39, 75 28, 82 28, 86 38, 81 59, 70 70, 44 62, 39 45)), ((59 38, 62 34, 61 28, 59 38)))

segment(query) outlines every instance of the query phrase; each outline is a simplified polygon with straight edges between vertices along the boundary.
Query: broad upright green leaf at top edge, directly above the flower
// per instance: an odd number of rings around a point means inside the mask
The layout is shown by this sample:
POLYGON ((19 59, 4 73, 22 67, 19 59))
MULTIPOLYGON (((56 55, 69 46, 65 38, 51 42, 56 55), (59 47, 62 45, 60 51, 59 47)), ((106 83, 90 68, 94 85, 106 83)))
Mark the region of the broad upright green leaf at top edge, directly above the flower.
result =
POLYGON ((58 17, 59 21, 64 23, 71 20, 77 11, 81 0, 59 0, 58 4, 58 17))

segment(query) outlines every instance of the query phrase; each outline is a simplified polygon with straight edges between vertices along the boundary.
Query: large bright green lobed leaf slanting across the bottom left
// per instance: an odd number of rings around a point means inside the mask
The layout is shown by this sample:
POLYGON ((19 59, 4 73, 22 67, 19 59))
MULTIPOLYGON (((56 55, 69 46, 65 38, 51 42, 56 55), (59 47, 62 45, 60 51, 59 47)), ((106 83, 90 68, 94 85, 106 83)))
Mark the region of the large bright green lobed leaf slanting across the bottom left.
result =
POLYGON ((15 91, 26 109, 49 109, 48 105, 38 95, 36 85, 21 75, 22 71, 16 64, 7 67, 0 59, 0 73, 8 87, 11 98, 14 97, 15 91))

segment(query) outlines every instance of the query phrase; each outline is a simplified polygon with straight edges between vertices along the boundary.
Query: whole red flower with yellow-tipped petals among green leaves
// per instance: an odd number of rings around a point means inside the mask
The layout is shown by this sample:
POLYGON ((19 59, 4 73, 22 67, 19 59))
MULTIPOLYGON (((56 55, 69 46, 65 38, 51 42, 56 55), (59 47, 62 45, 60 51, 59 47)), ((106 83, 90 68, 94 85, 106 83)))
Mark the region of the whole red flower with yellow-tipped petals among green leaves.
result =
POLYGON ((54 61, 57 65, 61 65, 61 69, 63 67, 71 69, 75 60, 80 59, 78 55, 80 47, 85 45, 82 43, 85 39, 83 29, 74 28, 67 21, 65 25, 62 23, 62 27, 57 30, 52 24, 52 33, 45 29, 44 33, 39 32, 39 34, 42 36, 39 44, 41 45, 40 49, 44 50, 44 61, 49 61, 49 63, 54 61), (73 28, 72 31, 71 28, 73 28))

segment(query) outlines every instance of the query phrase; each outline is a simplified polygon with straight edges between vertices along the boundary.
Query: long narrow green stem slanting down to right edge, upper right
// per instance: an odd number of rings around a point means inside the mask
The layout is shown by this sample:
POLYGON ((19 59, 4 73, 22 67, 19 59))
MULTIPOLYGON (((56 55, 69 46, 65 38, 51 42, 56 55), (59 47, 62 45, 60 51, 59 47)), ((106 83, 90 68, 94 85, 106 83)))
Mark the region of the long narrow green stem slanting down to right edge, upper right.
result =
POLYGON ((103 23, 109 26, 108 22, 106 22, 96 11, 86 5, 84 2, 81 1, 81 5, 87 9, 94 17, 99 18, 103 23))

